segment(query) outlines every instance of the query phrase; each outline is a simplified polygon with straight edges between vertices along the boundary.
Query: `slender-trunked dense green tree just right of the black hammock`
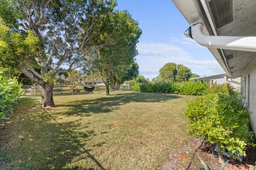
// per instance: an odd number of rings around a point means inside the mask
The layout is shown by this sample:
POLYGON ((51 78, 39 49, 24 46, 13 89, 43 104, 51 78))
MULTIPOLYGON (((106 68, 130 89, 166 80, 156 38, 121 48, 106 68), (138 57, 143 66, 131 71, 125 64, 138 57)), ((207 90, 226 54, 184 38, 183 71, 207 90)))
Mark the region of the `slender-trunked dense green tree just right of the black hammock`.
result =
POLYGON ((92 70, 101 75, 106 85, 106 95, 109 95, 109 83, 111 81, 122 83, 130 65, 134 62, 134 57, 138 54, 136 44, 141 29, 127 11, 115 11, 105 19, 107 20, 105 23, 110 24, 106 25, 106 28, 110 30, 111 37, 108 44, 93 54, 92 70), (115 31, 111 32, 113 29, 115 31))

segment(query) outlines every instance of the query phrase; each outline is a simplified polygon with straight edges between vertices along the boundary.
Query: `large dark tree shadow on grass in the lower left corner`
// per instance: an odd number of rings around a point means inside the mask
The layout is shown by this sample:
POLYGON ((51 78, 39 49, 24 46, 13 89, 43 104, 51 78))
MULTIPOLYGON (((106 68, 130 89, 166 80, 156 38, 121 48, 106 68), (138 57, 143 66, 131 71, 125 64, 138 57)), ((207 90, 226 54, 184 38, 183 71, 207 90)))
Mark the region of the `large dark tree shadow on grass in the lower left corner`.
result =
POLYGON ((7 162, 19 169, 81 169, 76 162, 83 159, 88 159, 86 162, 93 166, 88 165, 86 169, 105 169, 90 153, 105 142, 86 148, 86 142, 96 135, 94 131, 86 131, 90 123, 83 126, 82 132, 81 118, 59 123, 44 109, 25 108, 17 109, 11 127, 14 134, 24 138, 21 140, 12 134, 12 145, 8 146, 9 142, 6 146, 0 145, 0 169, 6 167, 7 162))

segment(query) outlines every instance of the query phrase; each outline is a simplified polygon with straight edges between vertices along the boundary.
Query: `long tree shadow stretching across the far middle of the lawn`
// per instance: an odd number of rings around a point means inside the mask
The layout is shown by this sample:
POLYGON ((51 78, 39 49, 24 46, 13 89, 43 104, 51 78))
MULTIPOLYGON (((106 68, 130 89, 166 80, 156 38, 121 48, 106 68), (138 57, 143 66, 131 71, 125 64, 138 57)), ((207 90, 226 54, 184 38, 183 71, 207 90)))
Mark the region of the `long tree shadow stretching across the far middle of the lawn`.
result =
POLYGON ((95 99, 84 99, 70 101, 66 104, 57 105, 57 107, 68 107, 68 112, 61 112, 56 114, 63 115, 84 115, 91 116, 95 113, 108 113, 118 106, 135 102, 135 103, 159 103, 171 99, 180 98, 177 95, 171 94, 155 94, 143 92, 130 92, 124 94, 115 94, 109 97, 101 97, 95 99))

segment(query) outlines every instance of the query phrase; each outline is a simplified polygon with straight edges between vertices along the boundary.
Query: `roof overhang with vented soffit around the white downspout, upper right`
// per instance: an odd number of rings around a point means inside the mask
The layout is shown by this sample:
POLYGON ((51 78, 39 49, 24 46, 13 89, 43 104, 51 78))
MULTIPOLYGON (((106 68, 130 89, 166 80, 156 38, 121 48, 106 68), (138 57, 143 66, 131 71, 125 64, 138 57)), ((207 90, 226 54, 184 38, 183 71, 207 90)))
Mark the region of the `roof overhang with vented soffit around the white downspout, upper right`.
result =
MULTIPOLYGON (((211 11, 209 2, 212 2, 212 0, 173 0, 189 25, 198 22, 203 23, 202 32, 206 36, 256 36, 256 20, 254 17, 256 15, 256 1, 214 0, 214 3, 220 3, 211 4, 218 6, 215 13, 211 11), (229 8, 226 6, 229 6, 229 8), (218 11, 219 7, 222 7, 222 11, 218 11), (227 22, 221 21, 223 17, 218 16, 219 18, 216 19, 217 14, 221 12, 225 15, 230 14, 227 22), (215 24, 217 21, 219 23, 215 24)), ((241 77, 256 56, 255 52, 245 52, 243 50, 208 49, 228 74, 228 77, 231 78, 241 77)))

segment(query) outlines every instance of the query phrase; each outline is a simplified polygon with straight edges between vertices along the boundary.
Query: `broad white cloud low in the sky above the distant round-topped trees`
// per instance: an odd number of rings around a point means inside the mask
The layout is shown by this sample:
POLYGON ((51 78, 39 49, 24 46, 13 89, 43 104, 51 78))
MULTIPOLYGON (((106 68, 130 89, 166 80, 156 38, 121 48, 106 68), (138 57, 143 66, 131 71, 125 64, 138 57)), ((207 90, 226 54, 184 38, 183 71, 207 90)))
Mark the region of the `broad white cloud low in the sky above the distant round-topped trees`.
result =
MULTIPOLYGON (((140 65, 140 74, 152 79, 159 74, 159 69, 169 62, 186 65, 193 72, 200 75, 223 73, 214 57, 212 57, 212 60, 205 61, 190 56, 185 50, 186 48, 181 48, 180 44, 182 43, 183 40, 180 40, 177 46, 164 43, 138 44, 139 55, 136 58, 140 65)), ((189 45, 189 43, 183 43, 183 45, 189 45)))

